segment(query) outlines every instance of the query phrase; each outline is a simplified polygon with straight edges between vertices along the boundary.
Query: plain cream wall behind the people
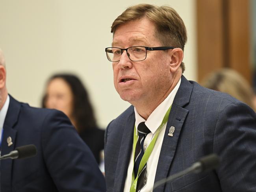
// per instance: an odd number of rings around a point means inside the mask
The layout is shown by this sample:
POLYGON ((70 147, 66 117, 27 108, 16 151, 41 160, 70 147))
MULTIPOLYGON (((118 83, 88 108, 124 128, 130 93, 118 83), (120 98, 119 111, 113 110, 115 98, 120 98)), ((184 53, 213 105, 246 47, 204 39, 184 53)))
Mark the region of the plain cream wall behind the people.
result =
POLYGON ((188 32, 184 63, 187 79, 196 80, 195 0, 0 0, 0 47, 7 63, 7 89, 17 100, 40 107, 48 77, 77 74, 89 91, 98 124, 106 127, 130 104, 113 86, 110 26, 126 7, 169 5, 188 32))

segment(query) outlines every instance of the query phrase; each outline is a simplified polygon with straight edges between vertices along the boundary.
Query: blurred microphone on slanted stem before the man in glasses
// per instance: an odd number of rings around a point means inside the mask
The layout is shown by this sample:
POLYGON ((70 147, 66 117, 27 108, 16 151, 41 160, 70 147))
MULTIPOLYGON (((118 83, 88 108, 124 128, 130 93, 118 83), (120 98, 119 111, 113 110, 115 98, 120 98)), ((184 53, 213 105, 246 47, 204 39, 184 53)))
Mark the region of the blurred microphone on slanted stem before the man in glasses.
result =
POLYGON ((192 166, 190 166, 189 168, 186 168, 185 170, 178 172, 174 175, 170 175, 169 177, 167 177, 165 179, 161 179, 160 181, 157 181, 154 184, 153 189, 157 188, 158 186, 160 186, 164 183, 167 183, 168 181, 172 181, 173 179, 184 176, 191 172, 198 174, 201 172, 208 172, 210 170, 213 170, 213 169, 217 168, 217 166, 219 166, 219 162, 220 162, 220 159, 219 159, 218 155, 216 155, 214 153, 204 156, 201 159, 199 159, 199 161, 193 163, 192 166))

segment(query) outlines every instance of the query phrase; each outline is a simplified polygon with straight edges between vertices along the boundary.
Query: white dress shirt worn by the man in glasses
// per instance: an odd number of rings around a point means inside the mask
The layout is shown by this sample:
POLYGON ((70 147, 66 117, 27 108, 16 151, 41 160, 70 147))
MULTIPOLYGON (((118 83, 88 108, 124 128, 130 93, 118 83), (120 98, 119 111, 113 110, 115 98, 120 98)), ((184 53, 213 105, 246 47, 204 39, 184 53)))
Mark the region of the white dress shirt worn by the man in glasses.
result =
MULTIPOLYGON (((174 97, 180 87, 181 79, 178 81, 177 85, 174 87, 174 89, 171 91, 171 93, 165 98, 165 100, 156 107, 156 109, 150 114, 147 121, 137 113, 136 108, 134 107, 135 112, 135 127, 137 132, 137 127, 139 123, 145 122, 145 125, 148 127, 148 129, 151 131, 151 133, 148 133, 147 137, 144 140, 144 151, 147 149, 148 145, 150 144, 152 138, 156 135, 156 131, 158 127, 160 126, 163 117, 165 116, 165 113, 169 109, 169 107, 173 104, 174 97)), ((148 192, 153 188, 155 175, 156 175, 156 168, 158 165, 158 159, 163 143, 163 137, 165 133, 167 123, 163 126, 161 129, 158 138, 156 140, 155 146, 152 150, 151 155, 148 158, 147 161, 147 183, 146 185, 141 189, 140 192, 148 192)), ((130 162, 128 166, 128 171, 126 175, 126 181, 124 185, 124 192, 129 192, 130 187, 132 184, 132 172, 134 168, 134 155, 131 154, 130 162)), ((151 190, 152 191, 152 190, 151 190)))

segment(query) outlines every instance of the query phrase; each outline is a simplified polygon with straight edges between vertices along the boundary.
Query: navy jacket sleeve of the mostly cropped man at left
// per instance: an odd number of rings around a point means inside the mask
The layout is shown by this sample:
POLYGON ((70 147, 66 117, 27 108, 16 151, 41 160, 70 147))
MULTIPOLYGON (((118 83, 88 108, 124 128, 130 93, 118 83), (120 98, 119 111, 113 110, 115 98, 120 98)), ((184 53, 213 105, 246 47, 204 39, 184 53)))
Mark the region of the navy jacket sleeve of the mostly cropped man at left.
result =
POLYGON ((53 110, 46 116, 41 132, 44 160, 59 191, 106 191, 92 152, 65 114, 53 110))

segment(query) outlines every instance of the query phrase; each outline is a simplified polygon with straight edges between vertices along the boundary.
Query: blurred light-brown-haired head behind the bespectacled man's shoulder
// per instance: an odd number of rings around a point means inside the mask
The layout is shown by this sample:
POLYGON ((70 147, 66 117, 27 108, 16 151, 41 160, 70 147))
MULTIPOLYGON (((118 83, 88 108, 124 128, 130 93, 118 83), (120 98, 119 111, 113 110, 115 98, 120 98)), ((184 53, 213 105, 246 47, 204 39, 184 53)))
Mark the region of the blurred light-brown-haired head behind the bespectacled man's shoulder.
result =
POLYGON ((252 87, 235 70, 223 68, 213 72, 201 84, 208 89, 230 94, 256 111, 255 94, 252 87))

